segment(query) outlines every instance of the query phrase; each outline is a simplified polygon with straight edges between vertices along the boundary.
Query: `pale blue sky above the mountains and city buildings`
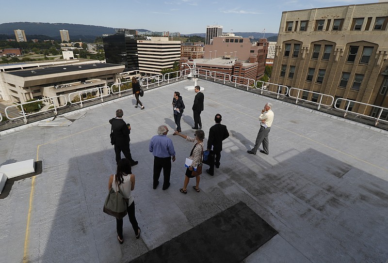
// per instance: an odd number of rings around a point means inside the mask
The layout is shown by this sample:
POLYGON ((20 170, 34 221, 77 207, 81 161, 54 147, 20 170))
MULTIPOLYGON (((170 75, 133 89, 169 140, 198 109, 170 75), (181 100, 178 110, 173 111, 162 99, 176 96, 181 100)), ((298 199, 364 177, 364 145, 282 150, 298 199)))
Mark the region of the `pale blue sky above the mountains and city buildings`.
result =
POLYGON ((223 32, 278 33, 283 11, 374 3, 378 0, 18 0, 17 10, 1 12, 0 24, 45 22, 112 28, 205 33, 207 25, 223 32))

